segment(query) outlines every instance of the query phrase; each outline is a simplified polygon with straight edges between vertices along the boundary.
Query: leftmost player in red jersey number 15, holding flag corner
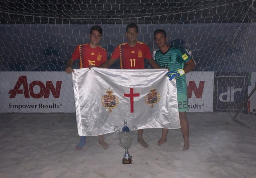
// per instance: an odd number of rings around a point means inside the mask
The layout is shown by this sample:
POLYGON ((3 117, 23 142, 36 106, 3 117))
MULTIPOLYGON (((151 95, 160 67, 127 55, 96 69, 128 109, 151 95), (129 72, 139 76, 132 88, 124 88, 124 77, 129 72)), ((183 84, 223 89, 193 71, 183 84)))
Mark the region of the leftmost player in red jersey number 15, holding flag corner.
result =
MULTIPOLYGON (((90 29, 90 42, 78 45, 66 64, 65 71, 70 74, 74 72, 72 65, 79 58, 79 68, 88 68, 89 66, 100 66, 107 61, 107 52, 98 44, 102 38, 102 29, 96 25, 90 29)), ((86 137, 81 136, 80 142, 76 145, 76 150, 81 150, 86 144, 86 137)), ((103 135, 99 136, 99 144, 106 150, 109 147, 104 141, 103 135)))

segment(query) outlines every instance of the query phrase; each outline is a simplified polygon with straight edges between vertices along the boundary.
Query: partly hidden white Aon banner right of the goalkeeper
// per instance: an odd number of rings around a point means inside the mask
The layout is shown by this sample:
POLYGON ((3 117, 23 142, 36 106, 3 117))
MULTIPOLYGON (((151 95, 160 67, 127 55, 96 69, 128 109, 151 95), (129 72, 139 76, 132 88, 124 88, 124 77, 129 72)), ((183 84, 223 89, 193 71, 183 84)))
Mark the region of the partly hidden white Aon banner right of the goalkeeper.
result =
POLYGON ((212 112, 214 72, 188 72, 188 112, 212 112))

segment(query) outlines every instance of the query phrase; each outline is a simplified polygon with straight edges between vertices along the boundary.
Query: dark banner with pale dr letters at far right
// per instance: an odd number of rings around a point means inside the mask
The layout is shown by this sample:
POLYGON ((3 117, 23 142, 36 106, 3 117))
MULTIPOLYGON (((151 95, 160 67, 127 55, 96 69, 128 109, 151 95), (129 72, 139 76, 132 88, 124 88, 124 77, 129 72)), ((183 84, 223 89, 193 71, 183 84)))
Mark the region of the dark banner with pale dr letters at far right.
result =
POLYGON ((214 111, 239 110, 248 93, 247 72, 217 72, 214 79, 214 111))

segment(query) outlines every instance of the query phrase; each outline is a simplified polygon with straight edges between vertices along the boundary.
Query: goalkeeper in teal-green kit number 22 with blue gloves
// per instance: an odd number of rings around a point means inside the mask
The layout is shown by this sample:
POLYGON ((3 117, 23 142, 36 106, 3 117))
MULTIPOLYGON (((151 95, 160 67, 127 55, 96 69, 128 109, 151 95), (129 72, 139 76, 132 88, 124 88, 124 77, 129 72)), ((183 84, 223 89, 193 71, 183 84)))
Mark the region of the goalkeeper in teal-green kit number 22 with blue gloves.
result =
MULTIPOLYGON (((184 74, 193 70, 196 64, 183 48, 167 44, 166 32, 164 30, 155 30, 154 40, 159 48, 155 54, 156 63, 161 66, 161 68, 168 68, 170 70, 167 73, 169 80, 176 78, 180 127, 184 138, 183 150, 188 150, 188 119, 186 116, 186 111, 188 110, 188 94, 184 74)), ((162 137, 158 140, 158 145, 167 141, 167 134, 168 129, 163 128, 162 137)))

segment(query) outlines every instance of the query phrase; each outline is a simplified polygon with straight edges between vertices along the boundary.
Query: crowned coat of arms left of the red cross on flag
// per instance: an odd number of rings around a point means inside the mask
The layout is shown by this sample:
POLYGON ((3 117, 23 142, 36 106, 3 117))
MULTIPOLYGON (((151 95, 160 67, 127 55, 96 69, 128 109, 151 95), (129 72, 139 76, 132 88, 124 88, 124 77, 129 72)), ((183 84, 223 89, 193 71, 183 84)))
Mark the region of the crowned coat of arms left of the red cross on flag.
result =
POLYGON ((109 109, 108 111, 111 113, 112 109, 116 108, 119 104, 119 100, 117 96, 113 95, 112 93, 114 90, 112 88, 108 88, 105 90, 107 93, 106 95, 102 96, 101 104, 104 108, 109 109))

